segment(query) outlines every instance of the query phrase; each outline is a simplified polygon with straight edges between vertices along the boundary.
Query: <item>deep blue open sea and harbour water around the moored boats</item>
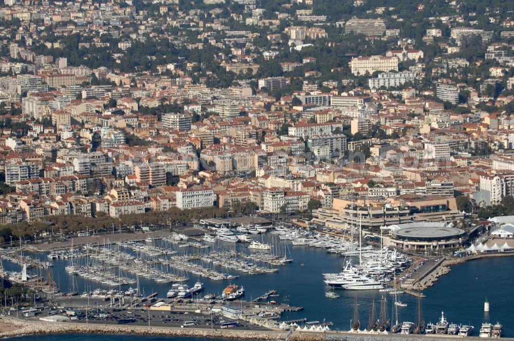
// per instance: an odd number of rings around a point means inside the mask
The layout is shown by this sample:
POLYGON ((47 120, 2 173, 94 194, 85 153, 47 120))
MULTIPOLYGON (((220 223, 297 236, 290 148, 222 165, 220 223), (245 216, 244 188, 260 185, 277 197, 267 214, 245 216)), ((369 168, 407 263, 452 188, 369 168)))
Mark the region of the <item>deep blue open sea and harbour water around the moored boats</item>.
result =
MULTIPOLYGON (((265 237, 269 238, 269 237, 265 237)), ((243 250, 243 245, 226 245, 227 248, 237 248, 243 250)), ((290 255, 294 261, 285 266, 281 266, 279 271, 265 275, 247 275, 227 271, 232 274, 240 275, 239 278, 232 280, 238 285, 243 285, 246 289, 246 299, 258 297, 267 290, 277 290, 281 296, 274 298, 277 301, 285 301, 291 306, 302 306, 303 311, 288 312, 282 317, 283 320, 292 320, 307 318, 309 321, 318 320, 320 322, 331 321, 334 323, 332 329, 348 330, 350 329, 351 319, 354 316, 354 302, 357 295, 359 316, 362 326, 367 326, 368 315, 371 310, 373 299, 377 302, 377 310, 379 310, 379 300, 382 293, 378 291, 353 292, 338 290, 340 298, 331 299, 325 297, 325 292, 329 290, 322 281, 322 273, 338 272, 344 264, 344 259, 340 256, 328 254, 319 248, 308 248, 305 246, 292 246, 289 242, 288 248, 290 255), (300 266, 303 263, 304 266, 300 266)), ((179 252, 186 252, 183 248, 179 252)), ((189 252, 198 252, 189 250, 189 252)), ((40 257, 46 257, 39 255, 40 257)), ((54 260, 53 277, 58 281, 60 288, 66 291, 70 278, 64 271, 66 260, 54 260)), ((204 264, 209 266, 209 264, 204 264)), ((4 262, 6 268, 16 269, 18 266, 4 262)), ((220 269, 223 271, 223 269, 220 269)), ((496 323, 499 321, 504 326, 504 336, 514 337, 514 295, 512 288, 514 285, 514 257, 497 257, 486 258, 481 260, 473 260, 464 264, 458 264, 452 267, 452 271, 435 283, 435 285, 424 293, 426 298, 421 300, 423 318, 426 322, 435 323, 440 318, 441 312, 444 311, 450 323, 457 323, 475 327, 475 335, 484 322, 496 323), (483 312, 484 301, 488 299, 490 302, 490 313, 483 312)), ((123 275, 123 274, 122 274, 123 275)), ((79 292, 84 290, 93 290, 101 287, 99 283, 85 280, 78 277, 79 292)), ((189 284, 192 286, 196 280, 205 283, 204 293, 220 293, 229 281, 211 281, 205 278, 197 278, 190 275, 189 284)), ((166 297, 169 285, 161 285, 154 281, 141 279, 140 285, 146 294, 158 292, 160 297, 166 297)), ((123 289, 123 288, 122 288, 123 289)), ((125 287, 126 289, 126 287, 125 287)), ((392 312, 393 297, 389 294, 383 294, 388 300, 388 312, 392 312)), ((408 304, 405 308, 398 308, 400 321, 416 321, 417 301, 416 298, 407 294, 399 295, 399 300, 408 304)), ((52 337, 38 337, 38 341, 58 340, 66 341, 68 339, 89 340, 93 336, 79 335, 66 336, 58 335, 52 337)), ((111 339, 109 336, 94 336, 95 341, 103 341, 111 339)), ((36 340, 33 337, 23 339, 36 340)), ((127 341, 152 340, 154 338, 147 337, 124 337, 127 341)), ((163 340, 164 338, 155 338, 163 340)), ((170 338, 167 338, 170 339, 170 338)), ((173 340, 187 340, 182 338, 171 338, 173 340)), ((170 339, 170 340, 171 340, 170 339)))

